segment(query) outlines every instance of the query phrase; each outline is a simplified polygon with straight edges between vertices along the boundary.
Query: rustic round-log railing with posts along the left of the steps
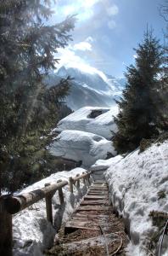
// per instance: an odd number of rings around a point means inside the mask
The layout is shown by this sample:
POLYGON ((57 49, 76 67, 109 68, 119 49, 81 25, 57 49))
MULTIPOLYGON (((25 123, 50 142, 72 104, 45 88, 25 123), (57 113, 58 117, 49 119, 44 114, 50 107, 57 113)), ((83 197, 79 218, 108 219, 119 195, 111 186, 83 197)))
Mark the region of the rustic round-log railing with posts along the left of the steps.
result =
POLYGON ((58 180, 57 183, 46 183, 42 189, 36 189, 29 193, 21 195, 2 195, 0 197, 0 255, 12 256, 12 215, 20 212, 21 210, 30 207, 37 201, 41 201, 45 198, 46 201, 46 212, 48 221, 53 224, 53 211, 52 211, 52 198, 55 192, 59 191, 59 201, 62 205, 64 203, 64 186, 70 186, 70 192, 73 193, 73 185, 76 184, 76 188, 80 188, 80 180, 83 183, 90 184, 91 172, 82 172, 77 174, 76 177, 70 177, 68 181, 58 180))

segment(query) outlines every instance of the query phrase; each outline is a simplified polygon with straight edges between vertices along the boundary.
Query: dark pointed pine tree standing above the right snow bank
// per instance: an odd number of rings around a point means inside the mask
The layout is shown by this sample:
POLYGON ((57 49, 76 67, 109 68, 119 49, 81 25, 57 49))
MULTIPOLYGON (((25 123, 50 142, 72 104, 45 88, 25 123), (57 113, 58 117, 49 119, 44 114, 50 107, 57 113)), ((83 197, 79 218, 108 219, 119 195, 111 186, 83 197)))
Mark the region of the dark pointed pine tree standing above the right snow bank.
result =
POLYGON ((127 67, 126 89, 118 102, 120 112, 115 118, 118 131, 113 137, 119 153, 132 151, 143 138, 158 134, 160 123, 159 74, 162 49, 153 32, 146 32, 143 43, 138 45, 135 66, 127 67))

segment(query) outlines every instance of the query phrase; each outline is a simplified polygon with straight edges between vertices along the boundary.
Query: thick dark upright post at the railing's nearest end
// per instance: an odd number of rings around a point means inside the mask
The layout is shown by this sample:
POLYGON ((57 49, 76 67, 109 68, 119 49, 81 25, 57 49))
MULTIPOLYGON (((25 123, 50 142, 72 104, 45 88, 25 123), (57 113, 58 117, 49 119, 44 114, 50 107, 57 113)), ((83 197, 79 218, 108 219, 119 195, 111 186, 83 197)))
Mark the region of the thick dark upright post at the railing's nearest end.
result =
POLYGON ((6 211, 4 199, 8 195, 0 197, 0 255, 12 256, 12 214, 6 211))

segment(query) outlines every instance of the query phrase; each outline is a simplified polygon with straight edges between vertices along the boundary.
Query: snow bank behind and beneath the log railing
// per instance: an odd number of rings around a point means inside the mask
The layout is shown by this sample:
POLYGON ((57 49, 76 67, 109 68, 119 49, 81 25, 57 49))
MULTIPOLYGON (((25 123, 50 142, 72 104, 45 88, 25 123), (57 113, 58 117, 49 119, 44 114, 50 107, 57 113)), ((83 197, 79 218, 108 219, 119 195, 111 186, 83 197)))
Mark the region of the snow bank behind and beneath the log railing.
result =
MULTIPOLYGON (((57 180, 68 180, 76 174, 86 172, 85 169, 76 168, 70 172, 57 172, 50 177, 32 184, 23 189, 20 194, 31 192, 35 189, 44 187, 45 183, 55 183, 57 180)), ((78 201, 87 192, 87 186, 80 180, 81 188, 74 188, 74 193, 69 192, 69 186, 63 188, 64 205, 59 204, 58 191, 53 195, 53 226, 46 219, 45 201, 39 201, 31 207, 14 215, 13 218, 13 237, 14 237, 14 256, 42 256, 42 250, 52 245, 56 230, 60 224, 64 223, 74 211, 78 201)))

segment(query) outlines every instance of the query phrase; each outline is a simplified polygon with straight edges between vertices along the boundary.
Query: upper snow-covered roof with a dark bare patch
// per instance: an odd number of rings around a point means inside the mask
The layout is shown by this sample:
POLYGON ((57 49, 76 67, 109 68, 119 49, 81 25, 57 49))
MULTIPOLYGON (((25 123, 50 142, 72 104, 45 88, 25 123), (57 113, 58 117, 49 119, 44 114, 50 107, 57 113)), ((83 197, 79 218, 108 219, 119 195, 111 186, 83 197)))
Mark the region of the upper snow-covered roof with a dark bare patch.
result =
POLYGON ((110 139, 111 131, 116 131, 113 116, 116 115, 118 108, 96 108, 85 107, 76 110, 64 119, 59 121, 55 131, 79 130, 95 133, 99 136, 110 139), (96 118, 90 118, 92 111, 102 111, 96 118))

